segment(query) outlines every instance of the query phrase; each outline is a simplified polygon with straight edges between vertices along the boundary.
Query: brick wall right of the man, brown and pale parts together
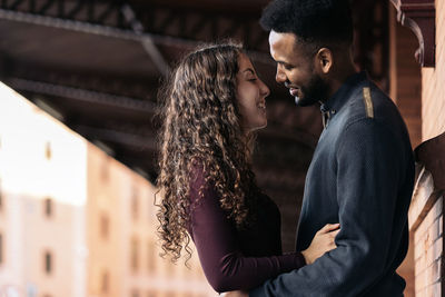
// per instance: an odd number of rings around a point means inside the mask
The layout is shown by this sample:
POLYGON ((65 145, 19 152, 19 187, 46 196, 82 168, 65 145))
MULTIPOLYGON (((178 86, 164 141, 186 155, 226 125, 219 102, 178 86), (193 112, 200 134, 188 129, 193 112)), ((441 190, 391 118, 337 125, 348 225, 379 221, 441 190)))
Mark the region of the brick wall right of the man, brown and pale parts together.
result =
MULTIPOLYGON (((415 66, 414 33, 395 22, 389 11, 390 96, 409 130, 413 147, 445 131, 445 1, 436 0, 436 67, 415 66), (421 99, 422 98, 422 99, 421 99)), ((407 280, 405 296, 443 296, 443 207, 433 177, 417 179, 409 208, 411 245, 399 268, 407 280)))

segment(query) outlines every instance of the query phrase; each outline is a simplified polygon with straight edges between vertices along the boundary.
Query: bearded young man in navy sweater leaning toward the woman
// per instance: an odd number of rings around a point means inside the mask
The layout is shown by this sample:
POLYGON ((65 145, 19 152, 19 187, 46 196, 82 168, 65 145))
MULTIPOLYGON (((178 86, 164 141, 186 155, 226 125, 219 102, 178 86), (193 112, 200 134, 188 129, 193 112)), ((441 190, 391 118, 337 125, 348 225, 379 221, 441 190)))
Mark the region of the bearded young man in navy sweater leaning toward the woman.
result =
POLYGON ((322 105, 325 129, 310 164, 297 232, 339 222, 337 248, 249 296, 403 296, 396 268, 408 247, 414 161, 393 101, 352 61, 347 0, 276 0, 264 11, 276 80, 298 106, 322 105))

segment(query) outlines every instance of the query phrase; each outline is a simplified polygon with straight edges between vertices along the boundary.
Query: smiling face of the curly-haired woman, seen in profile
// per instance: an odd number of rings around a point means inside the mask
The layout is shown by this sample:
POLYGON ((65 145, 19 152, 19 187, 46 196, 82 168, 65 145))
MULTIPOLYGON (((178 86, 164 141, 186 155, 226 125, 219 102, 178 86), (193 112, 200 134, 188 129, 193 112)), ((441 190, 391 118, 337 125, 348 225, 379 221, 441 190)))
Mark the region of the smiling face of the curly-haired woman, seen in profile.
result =
POLYGON ((267 126, 266 97, 269 88, 257 77, 250 59, 240 53, 238 57, 237 99, 241 113, 241 126, 247 131, 254 131, 267 126))

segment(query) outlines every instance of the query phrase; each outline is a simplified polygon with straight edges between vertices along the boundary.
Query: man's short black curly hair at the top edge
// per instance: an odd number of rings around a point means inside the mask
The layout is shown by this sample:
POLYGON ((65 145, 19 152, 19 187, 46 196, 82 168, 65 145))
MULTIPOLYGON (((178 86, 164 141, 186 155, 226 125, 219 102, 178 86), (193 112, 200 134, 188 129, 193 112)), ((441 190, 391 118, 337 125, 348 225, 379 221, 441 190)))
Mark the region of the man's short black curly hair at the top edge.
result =
POLYGON ((275 0, 263 12, 261 27, 279 33, 295 33, 306 43, 320 47, 353 42, 348 0, 275 0))

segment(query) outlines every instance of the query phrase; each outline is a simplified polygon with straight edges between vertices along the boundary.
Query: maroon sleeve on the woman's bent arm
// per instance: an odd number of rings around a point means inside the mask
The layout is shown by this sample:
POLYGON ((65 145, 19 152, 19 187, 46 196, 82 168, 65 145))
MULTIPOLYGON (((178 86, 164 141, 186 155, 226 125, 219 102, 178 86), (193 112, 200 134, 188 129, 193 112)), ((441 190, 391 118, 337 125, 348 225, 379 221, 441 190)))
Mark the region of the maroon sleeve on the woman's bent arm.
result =
POLYGON ((236 229, 219 205, 216 189, 204 188, 202 171, 190 185, 190 236, 198 251, 204 273, 218 291, 251 289, 266 279, 305 265, 300 253, 271 257, 245 257, 236 239, 236 229))

